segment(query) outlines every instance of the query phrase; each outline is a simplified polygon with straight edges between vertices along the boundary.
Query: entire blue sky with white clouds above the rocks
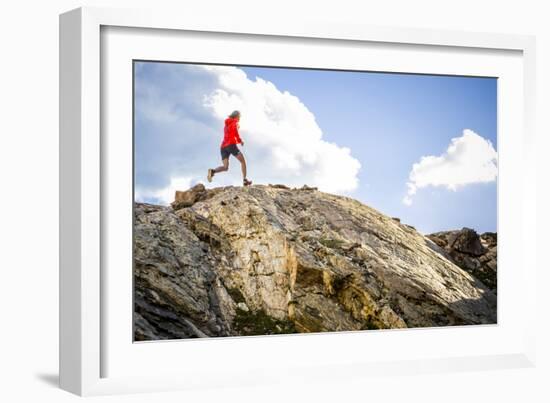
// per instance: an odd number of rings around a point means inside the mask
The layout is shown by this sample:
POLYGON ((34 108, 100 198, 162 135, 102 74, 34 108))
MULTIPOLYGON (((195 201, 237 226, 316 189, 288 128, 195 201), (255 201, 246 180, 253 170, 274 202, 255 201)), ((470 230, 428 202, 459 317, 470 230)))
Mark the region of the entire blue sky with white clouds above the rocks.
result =
MULTIPOLYGON (((496 231, 496 79, 195 67, 136 64, 137 200, 204 182, 219 163, 223 118, 241 109, 256 183, 303 179, 424 233, 496 231)), ((218 186, 240 182, 231 164, 218 186)))

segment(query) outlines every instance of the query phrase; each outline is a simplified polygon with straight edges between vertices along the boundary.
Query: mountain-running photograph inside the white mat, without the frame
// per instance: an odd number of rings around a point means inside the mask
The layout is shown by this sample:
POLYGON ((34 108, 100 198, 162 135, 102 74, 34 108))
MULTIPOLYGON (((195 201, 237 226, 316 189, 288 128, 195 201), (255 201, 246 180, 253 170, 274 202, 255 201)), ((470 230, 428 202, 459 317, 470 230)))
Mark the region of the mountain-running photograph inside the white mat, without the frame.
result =
POLYGON ((497 324, 498 78, 132 64, 134 342, 497 324))

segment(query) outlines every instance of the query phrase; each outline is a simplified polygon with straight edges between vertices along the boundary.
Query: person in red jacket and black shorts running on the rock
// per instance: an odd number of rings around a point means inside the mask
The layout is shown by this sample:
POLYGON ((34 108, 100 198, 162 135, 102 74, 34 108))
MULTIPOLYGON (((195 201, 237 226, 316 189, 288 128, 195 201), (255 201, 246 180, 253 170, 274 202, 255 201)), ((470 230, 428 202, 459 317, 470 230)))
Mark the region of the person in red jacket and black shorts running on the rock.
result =
POLYGON ((225 127, 223 130, 223 142, 221 145, 222 164, 217 168, 208 169, 207 179, 208 182, 212 182, 212 177, 220 172, 225 172, 229 169, 229 156, 233 155, 241 163, 241 171, 243 173, 243 186, 250 186, 252 181, 246 179, 246 161, 244 155, 237 147, 237 144, 244 146, 244 142, 239 136, 239 120, 241 119, 241 113, 239 111, 233 111, 227 119, 225 119, 225 127))

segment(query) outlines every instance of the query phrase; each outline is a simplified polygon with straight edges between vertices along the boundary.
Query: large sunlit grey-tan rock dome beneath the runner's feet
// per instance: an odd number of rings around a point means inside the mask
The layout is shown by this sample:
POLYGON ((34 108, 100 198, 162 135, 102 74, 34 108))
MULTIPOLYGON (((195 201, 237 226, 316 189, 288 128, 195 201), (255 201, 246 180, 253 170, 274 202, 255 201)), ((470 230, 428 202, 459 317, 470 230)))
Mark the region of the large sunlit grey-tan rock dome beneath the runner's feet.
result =
POLYGON ((356 200, 255 185, 173 206, 135 205, 136 340, 496 323, 481 281, 356 200))

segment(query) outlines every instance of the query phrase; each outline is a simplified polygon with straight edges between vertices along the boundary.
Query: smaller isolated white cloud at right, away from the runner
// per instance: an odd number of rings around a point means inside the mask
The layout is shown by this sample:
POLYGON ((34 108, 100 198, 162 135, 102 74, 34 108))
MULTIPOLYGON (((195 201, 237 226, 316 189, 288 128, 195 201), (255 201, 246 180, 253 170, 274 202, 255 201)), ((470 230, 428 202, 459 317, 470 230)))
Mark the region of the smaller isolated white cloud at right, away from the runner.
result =
POLYGON ((493 182, 497 178, 497 152, 493 144, 466 129, 451 140, 440 156, 428 155, 413 164, 403 203, 410 206, 418 189, 441 186, 456 191, 474 183, 493 182))

